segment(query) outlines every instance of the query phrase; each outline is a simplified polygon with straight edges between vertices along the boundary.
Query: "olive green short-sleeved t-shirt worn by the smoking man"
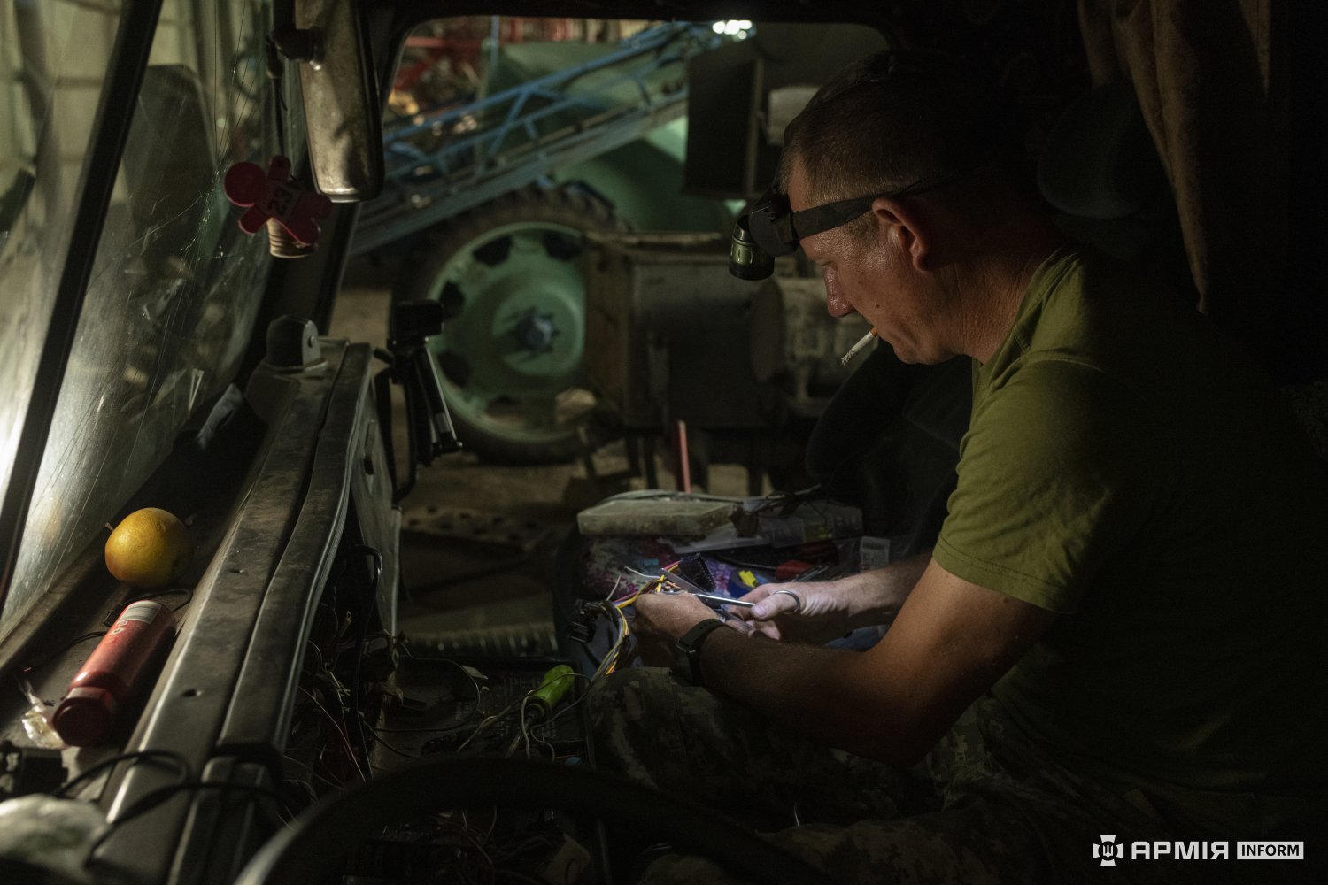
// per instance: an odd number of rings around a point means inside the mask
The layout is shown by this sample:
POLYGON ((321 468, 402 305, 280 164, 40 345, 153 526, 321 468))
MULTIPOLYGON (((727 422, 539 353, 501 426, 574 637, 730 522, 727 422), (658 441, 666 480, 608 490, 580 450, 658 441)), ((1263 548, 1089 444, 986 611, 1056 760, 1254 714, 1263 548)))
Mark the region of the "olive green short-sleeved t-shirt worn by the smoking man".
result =
POLYGON ((1207 832, 1303 817, 1328 760, 1328 483, 1252 364, 1062 248, 975 368, 957 472, 936 561, 1061 613, 992 689, 1024 731, 1207 832))

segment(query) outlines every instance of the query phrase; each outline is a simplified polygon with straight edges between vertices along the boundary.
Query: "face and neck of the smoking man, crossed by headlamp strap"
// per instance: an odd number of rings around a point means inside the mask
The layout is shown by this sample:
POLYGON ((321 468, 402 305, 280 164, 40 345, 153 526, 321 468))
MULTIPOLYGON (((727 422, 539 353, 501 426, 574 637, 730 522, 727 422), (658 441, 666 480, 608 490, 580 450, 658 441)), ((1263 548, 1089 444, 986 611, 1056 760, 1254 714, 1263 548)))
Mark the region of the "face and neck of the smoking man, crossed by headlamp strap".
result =
MULTIPOLYGON (((811 204, 802 163, 789 178, 789 203, 795 212, 811 204)), ((801 245, 821 268, 831 316, 861 313, 904 362, 942 362, 954 356, 939 336, 943 296, 914 267, 907 238, 896 226, 876 220, 867 239, 837 227, 803 238, 801 245)))

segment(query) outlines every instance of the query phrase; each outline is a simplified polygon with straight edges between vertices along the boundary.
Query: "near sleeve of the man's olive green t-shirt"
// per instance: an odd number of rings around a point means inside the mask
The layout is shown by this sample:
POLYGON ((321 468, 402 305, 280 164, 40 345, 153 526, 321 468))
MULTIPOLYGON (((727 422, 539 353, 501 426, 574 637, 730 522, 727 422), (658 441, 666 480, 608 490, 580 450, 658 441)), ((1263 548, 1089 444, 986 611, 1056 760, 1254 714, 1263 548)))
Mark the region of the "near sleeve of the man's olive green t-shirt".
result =
POLYGON ((934 556, 952 575, 1073 612, 1142 529, 1163 452, 1145 451, 1142 403, 1100 370, 1042 358, 983 395, 934 556))

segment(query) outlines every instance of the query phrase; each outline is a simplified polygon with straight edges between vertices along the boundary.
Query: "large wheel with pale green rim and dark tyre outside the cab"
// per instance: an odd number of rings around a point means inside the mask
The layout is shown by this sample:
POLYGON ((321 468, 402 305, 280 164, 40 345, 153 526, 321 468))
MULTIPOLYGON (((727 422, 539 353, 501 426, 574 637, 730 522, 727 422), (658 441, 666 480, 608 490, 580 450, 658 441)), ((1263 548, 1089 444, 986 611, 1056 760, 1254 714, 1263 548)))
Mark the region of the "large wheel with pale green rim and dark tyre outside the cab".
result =
POLYGON ((584 451, 583 235, 625 230, 592 196, 527 187, 437 226, 406 260, 393 297, 445 306, 433 346, 467 450, 507 464, 584 451))

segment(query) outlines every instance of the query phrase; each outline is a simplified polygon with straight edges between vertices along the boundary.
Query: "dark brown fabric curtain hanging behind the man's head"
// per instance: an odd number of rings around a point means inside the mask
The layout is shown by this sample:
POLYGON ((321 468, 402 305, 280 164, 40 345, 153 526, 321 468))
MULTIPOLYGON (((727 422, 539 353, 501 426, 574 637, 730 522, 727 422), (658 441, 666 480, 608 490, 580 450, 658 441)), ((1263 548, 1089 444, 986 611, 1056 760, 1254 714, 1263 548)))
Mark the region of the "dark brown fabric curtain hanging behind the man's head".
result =
POLYGON ((1201 309, 1266 356, 1287 265, 1286 4, 1078 0, 1078 16, 1094 85, 1134 85, 1201 309))

